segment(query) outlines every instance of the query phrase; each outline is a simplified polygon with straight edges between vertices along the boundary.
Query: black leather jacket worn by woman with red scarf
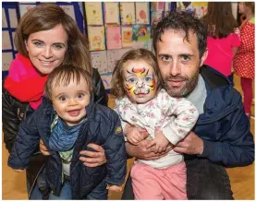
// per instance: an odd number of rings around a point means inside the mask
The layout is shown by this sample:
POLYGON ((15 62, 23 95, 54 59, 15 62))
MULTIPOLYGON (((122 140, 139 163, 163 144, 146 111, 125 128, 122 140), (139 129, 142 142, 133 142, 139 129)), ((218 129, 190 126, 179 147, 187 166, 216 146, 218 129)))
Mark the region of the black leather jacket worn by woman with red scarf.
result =
MULTIPOLYGON (((94 102, 107 106, 108 97, 104 89, 103 81, 99 75, 97 69, 93 68, 93 91, 94 95, 91 96, 94 102)), ((26 114, 32 113, 33 110, 28 102, 20 102, 12 97, 7 90, 4 88, 4 82, 2 85, 2 122, 4 132, 4 142, 6 149, 11 152, 16 137, 18 135, 18 125, 21 120, 26 119, 26 114)), ((27 181, 29 187, 35 183, 38 173, 43 168, 47 156, 43 156, 39 147, 35 150, 34 155, 30 158, 30 167, 27 170, 27 181)), ((30 193, 29 193, 30 196, 30 193)))

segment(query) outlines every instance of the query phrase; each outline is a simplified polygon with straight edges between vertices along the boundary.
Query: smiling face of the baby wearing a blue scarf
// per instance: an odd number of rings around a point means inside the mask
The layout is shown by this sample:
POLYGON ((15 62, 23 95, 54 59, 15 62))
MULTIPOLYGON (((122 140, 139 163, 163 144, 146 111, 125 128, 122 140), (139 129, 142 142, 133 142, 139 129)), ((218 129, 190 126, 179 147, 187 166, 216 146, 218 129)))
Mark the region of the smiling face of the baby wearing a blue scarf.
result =
POLYGON ((78 125, 86 115, 85 106, 91 97, 86 80, 81 77, 77 84, 77 81, 71 79, 67 86, 56 87, 54 81, 53 87, 52 101, 56 113, 67 125, 78 125))

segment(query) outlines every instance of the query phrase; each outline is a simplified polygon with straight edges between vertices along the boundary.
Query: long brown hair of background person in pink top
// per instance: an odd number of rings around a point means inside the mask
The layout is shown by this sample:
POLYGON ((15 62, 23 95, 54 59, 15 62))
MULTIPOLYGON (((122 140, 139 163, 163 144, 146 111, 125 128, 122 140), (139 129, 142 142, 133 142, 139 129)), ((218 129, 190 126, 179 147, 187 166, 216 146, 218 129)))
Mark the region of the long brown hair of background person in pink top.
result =
POLYGON ((231 2, 209 2, 207 14, 202 18, 208 25, 208 36, 225 38, 238 28, 233 17, 231 2))

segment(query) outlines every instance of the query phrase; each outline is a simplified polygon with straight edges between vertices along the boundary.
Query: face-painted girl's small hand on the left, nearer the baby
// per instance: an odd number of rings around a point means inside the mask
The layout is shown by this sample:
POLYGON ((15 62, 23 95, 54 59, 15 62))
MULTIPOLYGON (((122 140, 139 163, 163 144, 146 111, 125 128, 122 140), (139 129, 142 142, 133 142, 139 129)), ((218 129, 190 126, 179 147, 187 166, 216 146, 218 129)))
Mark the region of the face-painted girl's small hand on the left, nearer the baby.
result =
POLYGON ((147 130, 131 125, 126 125, 125 134, 128 137, 128 142, 133 145, 138 145, 142 139, 149 136, 147 130))

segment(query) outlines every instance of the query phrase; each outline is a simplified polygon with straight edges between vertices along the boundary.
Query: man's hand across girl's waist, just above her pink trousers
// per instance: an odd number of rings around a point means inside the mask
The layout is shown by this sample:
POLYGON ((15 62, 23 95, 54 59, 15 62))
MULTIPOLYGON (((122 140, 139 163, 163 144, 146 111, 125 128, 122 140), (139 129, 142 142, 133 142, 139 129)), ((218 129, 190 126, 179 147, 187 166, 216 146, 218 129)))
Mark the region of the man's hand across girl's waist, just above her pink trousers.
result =
POLYGON ((140 160, 157 160, 164 157, 171 149, 166 149, 164 152, 156 153, 152 139, 143 139, 135 146, 126 142, 128 155, 136 157, 140 160))

